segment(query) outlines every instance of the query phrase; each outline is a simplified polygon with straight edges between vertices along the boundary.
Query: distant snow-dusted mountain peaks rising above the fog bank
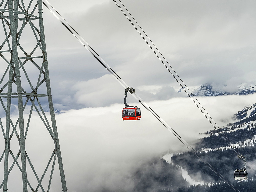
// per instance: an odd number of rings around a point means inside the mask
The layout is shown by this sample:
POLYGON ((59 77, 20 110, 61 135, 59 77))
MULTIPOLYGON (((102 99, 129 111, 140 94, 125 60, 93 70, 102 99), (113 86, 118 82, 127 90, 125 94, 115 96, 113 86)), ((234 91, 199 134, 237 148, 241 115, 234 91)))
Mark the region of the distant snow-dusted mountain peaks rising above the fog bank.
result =
MULTIPOLYGON (((185 87, 188 91, 188 89, 185 87)), ((205 83, 197 87, 189 87, 194 96, 220 96, 220 95, 247 95, 256 92, 256 81, 241 83, 238 86, 228 86, 223 84, 205 83)), ((184 92, 181 88, 178 93, 184 92)))

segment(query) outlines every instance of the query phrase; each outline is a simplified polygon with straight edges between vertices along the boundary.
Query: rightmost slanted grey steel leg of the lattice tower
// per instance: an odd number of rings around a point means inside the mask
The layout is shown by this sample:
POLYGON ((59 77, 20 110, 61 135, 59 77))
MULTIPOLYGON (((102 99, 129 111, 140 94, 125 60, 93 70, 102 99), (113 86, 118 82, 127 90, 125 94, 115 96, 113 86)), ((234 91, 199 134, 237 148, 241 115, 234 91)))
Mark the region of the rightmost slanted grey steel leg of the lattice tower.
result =
POLYGON ((42 53, 44 58, 44 68, 45 68, 45 78, 46 78, 45 81, 46 81, 48 103, 49 103, 49 109, 50 109, 50 115, 51 115, 52 130, 54 132, 54 137, 55 137, 54 139, 57 145, 56 153, 57 153, 59 169, 60 169, 60 178, 61 178, 62 189, 63 189, 62 191, 67 191, 62 157, 60 152, 59 137, 58 137, 55 114, 54 114, 54 107, 53 107, 52 96, 51 96, 51 85, 50 85, 50 76, 49 76, 48 61, 47 61, 47 54, 46 54, 45 33, 44 33, 43 15, 42 15, 43 13, 42 0, 38 0, 38 13, 39 13, 39 27, 40 27, 40 36, 41 36, 41 43, 42 43, 42 53))

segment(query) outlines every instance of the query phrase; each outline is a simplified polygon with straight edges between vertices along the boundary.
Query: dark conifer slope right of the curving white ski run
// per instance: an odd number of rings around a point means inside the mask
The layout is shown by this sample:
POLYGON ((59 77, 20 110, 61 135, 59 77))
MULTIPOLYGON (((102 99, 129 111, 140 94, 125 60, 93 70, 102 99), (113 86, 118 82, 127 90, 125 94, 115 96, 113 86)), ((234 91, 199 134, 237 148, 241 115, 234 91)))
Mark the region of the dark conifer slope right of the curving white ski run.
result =
MULTIPOLYGON (((255 191, 254 173, 248 170, 248 181, 235 181, 234 170, 244 166, 243 161, 237 158, 230 145, 224 141, 227 137, 240 154, 246 157, 246 161, 255 169, 256 161, 256 104, 248 106, 234 115, 236 121, 218 130, 207 131, 206 137, 199 140, 196 150, 200 156, 211 164, 222 176, 229 180, 240 191, 255 191), (225 134, 225 135, 224 135, 225 134)), ((190 186, 180 188, 178 191, 234 191, 220 179, 192 152, 175 153, 172 155, 172 163, 185 169, 188 174, 204 182, 214 182, 208 186, 190 186), (199 177, 200 175, 200 177, 199 177)))

